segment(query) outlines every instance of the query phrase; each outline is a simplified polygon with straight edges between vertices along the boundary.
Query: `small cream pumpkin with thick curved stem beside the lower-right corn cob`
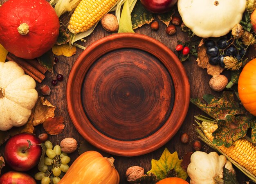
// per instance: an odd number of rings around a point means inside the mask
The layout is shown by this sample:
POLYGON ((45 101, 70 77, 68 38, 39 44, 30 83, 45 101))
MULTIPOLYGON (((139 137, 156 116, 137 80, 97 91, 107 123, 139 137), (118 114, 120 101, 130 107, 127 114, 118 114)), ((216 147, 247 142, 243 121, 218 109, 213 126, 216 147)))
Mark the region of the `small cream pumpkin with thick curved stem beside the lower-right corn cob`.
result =
POLYGON ((190 158, 191 162, 187 168, 190 184, 217 184, 223 181, 223 168, 235 173, 231 162, 223 155, 216 152, 209 154, 195 151, 190 158))

